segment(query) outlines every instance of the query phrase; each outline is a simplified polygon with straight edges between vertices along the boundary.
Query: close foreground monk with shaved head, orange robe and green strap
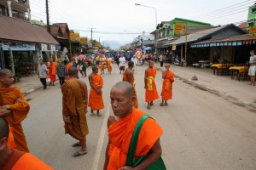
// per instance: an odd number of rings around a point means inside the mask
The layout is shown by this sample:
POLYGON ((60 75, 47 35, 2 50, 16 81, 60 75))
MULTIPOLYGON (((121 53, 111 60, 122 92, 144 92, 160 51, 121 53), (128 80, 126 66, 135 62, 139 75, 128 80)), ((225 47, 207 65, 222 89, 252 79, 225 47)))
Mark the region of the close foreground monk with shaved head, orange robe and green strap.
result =
POLYGON ((118 82, 110 91, 114 116, 108 117, 108 146, 104 170, 147 169, 161 156, 160 136, 163 130, 153 119, 148 118, 140 130, 135 156, 148 155, 137 167, 126 167, 125 161, 131 135, 138 120, 145 114, 132 105, 135 102, 133 87, 129 82, 118 82), (116 117, 119 120, 116 120, 116 117))

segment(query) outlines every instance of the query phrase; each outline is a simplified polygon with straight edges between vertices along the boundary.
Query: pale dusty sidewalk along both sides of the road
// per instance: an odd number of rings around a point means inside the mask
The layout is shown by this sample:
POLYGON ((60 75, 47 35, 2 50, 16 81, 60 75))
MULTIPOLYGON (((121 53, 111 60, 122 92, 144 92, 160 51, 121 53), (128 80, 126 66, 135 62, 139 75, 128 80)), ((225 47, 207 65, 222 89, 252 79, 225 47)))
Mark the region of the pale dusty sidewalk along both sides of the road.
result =
MULTIPOLYGON (((160 63, 154 64, 159 70, 160 63)), ((216 76, 212 74, 211 68, 193 68, 180 67, 171 65, 171 70, 174 72, 176 78, 180 78, 183 82, 189 83, 192 86, 207 90, 212 94, 217 94, 224 99, 231 100, 236 105, 247 106, 251 109, 256 109, 256 86, 248 85, 248 81, 238 82, 236 79, 231 80, 230 76, 216 76), (192 81, 191 78, 196 76, 197 81, 192 81)), ((59 82, 57 81, 56 84, 59 82)), ((22 77, 21 82, 16 82, 15 86, 19 87, 24 95, 30 94, 35 90, 43 88, 38 76, 22 77)))

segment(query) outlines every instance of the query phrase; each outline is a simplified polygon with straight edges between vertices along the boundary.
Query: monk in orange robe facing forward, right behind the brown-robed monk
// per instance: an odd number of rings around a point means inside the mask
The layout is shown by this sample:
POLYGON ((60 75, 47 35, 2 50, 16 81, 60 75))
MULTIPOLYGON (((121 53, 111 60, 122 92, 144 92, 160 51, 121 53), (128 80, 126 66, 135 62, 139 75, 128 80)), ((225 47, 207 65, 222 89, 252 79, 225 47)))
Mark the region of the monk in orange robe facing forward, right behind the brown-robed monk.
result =
POLYGON ((104 109, 104 102, 102 97, 103 79, 98 74, 98 67, 92 66, 92 73, 89 76, 90 82, 90 96, 89 104, 90 116, 102 116, 100 110, 104 109), (93 111, 97 111, 96 114, 93 111))

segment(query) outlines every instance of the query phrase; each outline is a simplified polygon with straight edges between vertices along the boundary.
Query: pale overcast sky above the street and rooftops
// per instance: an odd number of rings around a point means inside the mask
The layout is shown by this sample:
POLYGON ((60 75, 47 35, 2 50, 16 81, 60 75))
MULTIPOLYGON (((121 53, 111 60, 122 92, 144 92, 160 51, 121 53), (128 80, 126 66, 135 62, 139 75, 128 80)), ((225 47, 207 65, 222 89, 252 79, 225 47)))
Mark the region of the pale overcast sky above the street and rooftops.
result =
MULTIPOLYGON (((253 0, 49 0, 50 23, 67 23, 80 36, 97 41, 132 42, 136 33, 155 29, 154 8, 136 6, 140 3, 157 9, 157 22, 175 17, 199 20, 213 26, 247 20, 248 6, 253 0), (101 33, 98 33, 101 32, 101 33), (118 34, 117 34, 118 33, 118 34), (135 34, 132 34, 135 33, 135 34)), ((30 0, 32 20, 46 22, 45 0, 30 0)))

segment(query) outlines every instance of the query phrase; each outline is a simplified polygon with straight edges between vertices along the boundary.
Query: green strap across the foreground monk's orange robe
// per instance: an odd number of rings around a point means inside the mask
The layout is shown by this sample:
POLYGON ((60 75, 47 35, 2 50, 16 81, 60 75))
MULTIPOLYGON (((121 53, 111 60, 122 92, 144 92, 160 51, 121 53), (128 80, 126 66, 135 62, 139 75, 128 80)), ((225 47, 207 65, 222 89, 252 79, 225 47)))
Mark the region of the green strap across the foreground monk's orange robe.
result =
POLYGON ((133 161, 134 161, 133 159, 134 159, 136 148, 137 148, 138 135, 140 133, 141 128, 143 127, 143 122, 145 122, 146 119, 149 118, 149 117, 150 116, 148 116, 148 115, 143 115, 140 118, 140 120, 137 122, 136 127, 134 128, 134 131, 133 131, 132 136, 131 136, 131 142, 130 142, 130 145, 129 145, 129 150, 128 150, 126 163, 125 163, 126 166, 132 166, 132 164, 133 164, 133 161))

